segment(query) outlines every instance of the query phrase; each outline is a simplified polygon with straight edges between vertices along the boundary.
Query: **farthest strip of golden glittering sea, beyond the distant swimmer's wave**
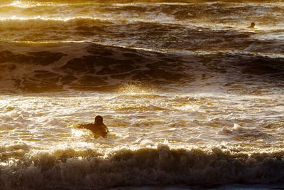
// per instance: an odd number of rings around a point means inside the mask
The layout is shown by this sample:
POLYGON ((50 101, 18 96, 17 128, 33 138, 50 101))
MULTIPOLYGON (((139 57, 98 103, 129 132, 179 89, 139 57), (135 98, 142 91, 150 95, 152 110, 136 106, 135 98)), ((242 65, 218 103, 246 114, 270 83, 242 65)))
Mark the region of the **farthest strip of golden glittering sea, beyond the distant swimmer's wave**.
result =
MULTIPOLYGON (((20 1, 21 2, 21 1, 20 1)), ((212 28, 246 28, 253 21, 271 28, 281 28, 283 24, 283 4, 240 4, 227 2, 197 4, 167 4, 151 2, 131 4, 44 4, 24 1, 23 6, 0 6, 0 18, 33 19, 38 16, 46 20, 65 20, 73 18, 96 18, 113 21, 142 21, 158 23, 182 23, 212 28), (34 7, 29 7, 28 2, 34 7), (27 4, 26 7, 25 3, 27 4), (38 6, 37 6, 38 5, 38 6), (13 11, 13 16, 11 16, 13 11), (113 16, 115 15, 115 16, 113 16)))

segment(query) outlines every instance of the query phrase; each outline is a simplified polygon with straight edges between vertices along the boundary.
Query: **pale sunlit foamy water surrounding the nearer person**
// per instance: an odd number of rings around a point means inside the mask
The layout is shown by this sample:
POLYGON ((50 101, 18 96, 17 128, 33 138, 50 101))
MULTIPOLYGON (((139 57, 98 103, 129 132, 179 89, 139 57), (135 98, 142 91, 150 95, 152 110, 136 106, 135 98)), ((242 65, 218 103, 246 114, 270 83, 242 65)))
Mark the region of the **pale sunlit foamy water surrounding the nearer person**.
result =
POLYGON ((27 144, 34 152, 92 148, 108 154, 159 143, 269 152, 284 145, 283 95, 51 93, 2 95, 0 105, 1 145, 27 144), (107 139, 76 128, 96 115, 104 116, 107 139))

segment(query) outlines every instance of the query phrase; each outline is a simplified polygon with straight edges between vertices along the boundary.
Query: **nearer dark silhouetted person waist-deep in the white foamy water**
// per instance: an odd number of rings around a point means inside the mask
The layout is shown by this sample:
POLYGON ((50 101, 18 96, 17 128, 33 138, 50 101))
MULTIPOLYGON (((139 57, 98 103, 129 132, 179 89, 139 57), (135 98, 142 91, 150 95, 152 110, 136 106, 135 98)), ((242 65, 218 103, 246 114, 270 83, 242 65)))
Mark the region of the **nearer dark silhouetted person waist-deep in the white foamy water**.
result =
POLYGON ((107 133, 109 132, 106 125, 103 123, 103 118, 100 115, 97 115, 94 118, 94 123, 82 124, 78 127, 91 130, 94 134, 94 137, 97 139, 98 137, 107 137, 107 133))

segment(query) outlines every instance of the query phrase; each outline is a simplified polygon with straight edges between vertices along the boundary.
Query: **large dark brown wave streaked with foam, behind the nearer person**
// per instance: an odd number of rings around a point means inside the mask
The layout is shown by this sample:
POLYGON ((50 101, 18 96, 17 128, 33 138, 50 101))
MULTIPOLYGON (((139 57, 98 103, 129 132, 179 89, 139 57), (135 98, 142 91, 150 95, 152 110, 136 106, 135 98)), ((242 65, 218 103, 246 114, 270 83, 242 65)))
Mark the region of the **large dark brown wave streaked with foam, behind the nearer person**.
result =
MULTIPOLYGON (((251 53, 167 53, 87 42, 1 49, 1 83, 28 93, 112 91, 141 82, 163 88, 203 83, 240 90, 252 83, 281 86, 284 79, 283 58, 251 53)), ((8 90, 5 86, 1 90, 8 90)))

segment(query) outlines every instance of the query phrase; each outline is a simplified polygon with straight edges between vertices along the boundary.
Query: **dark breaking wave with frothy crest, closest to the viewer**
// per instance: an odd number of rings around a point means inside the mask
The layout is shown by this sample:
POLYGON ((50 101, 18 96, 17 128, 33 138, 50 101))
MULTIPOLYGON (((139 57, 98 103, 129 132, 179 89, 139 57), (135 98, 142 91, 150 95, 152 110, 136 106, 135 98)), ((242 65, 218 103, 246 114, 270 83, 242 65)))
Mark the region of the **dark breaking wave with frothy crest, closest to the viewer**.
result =
MULTIPOLYGON (((1 189, 106 189, 171 184, 213 187, 284 182, 283 152, 246 154, 219 148, 170 149, 160 144, 157 149, 121 149, 107 157, 92 149, 65 149, 31 156, 23 148, 21 155, 16 155, 17 161, 10 161, 10 167, 1 165, 1 189)), ((0 156, 5 161, 3 149, 0 156)))

